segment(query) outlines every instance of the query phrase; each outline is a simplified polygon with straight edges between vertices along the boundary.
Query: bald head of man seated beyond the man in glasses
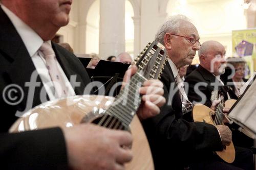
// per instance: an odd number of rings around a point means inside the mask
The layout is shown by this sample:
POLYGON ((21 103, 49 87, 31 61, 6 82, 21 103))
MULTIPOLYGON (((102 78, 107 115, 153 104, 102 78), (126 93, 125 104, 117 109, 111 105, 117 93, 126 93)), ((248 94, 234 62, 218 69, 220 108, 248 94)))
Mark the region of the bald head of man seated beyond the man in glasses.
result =
POLYGON ((200 65, 218 76, 225 71, 225 47, 218 41, 206 41, 200 46, 198 55, 200 65))

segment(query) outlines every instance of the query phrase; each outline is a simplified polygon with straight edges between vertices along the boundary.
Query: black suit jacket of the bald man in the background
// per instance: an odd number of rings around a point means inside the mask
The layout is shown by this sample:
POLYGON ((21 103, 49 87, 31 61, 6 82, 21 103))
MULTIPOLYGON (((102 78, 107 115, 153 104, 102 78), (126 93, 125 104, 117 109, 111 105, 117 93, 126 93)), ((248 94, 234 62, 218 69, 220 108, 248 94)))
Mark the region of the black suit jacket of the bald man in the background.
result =
MULTIPOLYGON (((187 82, 189 85, 189 88, 188 88, 189 101, 194 103, 202 103, 208 107, 211 106, 211 101, 210 101, 211 92, 216 90, 214 88, 215 82, 217 82, 219 86, 222 86, 221 83, 218 81, 218 79, 201 65, 199 65, 197 69, 192 71, 186 77, 185 82, 187 82), (202 84, 201 86, 198 87, 198 90, 200 90, 200 93, 197 90, 195 90, 195 88, 197 88, 196 86, 198 85, 197 83, 202 84)), ((234 94, 231 90, 229 90, 228 93, 231 99, 237 99, 236 94, 234 94)), ((226 94, 224 95, 224 98, 225 100, 227 100, 226 94)))

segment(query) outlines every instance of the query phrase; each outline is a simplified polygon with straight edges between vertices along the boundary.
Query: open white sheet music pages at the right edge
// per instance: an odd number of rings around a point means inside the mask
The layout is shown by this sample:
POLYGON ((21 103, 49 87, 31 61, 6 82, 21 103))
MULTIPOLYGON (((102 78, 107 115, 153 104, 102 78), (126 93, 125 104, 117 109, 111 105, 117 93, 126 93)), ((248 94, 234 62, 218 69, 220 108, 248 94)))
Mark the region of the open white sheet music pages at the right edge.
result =
POLYGON ((246 129, 251 134, 250 137, 256 137, 256 81, 245 91, 228 116, 246 129))

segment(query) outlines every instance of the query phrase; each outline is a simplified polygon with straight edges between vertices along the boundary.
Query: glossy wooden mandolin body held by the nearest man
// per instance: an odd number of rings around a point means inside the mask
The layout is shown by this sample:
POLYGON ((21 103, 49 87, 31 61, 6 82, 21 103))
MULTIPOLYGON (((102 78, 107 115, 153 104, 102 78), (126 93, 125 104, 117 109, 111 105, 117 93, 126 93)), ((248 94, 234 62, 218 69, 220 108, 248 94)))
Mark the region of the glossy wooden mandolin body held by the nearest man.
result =
MULTIPOLYGON (((50 127, 69 128, 81 122, 91 123, 102 116, 115 98, 101 95, 76 95, 49 101, 31 109, 19 118, 9 132, 23 132, 50 127)), ((130 125, 133 135, 133 160, 125 169, 154 169, 153 158, 140 120, 135 115, 130 125)))

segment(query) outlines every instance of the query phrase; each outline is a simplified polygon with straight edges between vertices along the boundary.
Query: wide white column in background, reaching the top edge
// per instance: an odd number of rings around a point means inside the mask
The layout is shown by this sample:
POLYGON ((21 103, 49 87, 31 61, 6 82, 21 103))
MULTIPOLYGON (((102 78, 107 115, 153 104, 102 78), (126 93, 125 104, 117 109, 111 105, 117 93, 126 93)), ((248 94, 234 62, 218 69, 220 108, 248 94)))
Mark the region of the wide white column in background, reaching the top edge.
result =
POLYGON ((125 0, 100 0, 99 57, 125 52, 125 0))

